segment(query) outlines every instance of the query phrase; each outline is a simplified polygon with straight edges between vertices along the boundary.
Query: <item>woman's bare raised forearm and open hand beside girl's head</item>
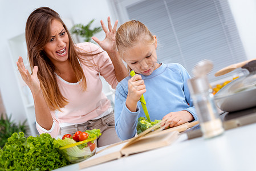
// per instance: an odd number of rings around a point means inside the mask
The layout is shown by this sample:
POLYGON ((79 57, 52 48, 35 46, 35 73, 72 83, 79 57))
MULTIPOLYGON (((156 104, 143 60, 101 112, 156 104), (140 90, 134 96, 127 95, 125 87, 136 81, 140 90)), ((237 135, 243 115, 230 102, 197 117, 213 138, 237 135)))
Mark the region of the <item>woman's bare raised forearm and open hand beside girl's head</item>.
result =
POLYGON ((112 27, 110 17, 108 17, 108 28, 107 28, 104 25, 103 21, 101 20, 100 23, 101 23, 101 27, 103 28, 103 31, 105 32, 105 39, 102 41, 100 41, 96 37, 92 37, 92 39, 95 40, 95 42, 97 42, 97 44, 99 44, 99 46, 108 53, 113 63, 113 66, 115 68, 115 75, 116 75, 117 82, 121 82, 121 80, 123 80, 126 76, 128 76, 128 71, 127 71, 127 68, 124 66, 124 63, 121 60, 116 48, 115 36, 116 36, 117 22, 118 21, 116 21, 114 27, 112 27))

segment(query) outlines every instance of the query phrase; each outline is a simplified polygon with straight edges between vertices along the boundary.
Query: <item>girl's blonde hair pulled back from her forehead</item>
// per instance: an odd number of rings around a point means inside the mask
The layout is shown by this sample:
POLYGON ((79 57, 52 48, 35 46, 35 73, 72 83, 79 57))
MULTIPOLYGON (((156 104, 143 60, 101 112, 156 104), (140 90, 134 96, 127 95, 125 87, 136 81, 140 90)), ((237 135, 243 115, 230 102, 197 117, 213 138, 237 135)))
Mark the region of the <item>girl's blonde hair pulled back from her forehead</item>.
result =
MULTIPOLYGON (((137 43, 143 42, 145 44, 153 44, 156 42, 152 33, 148 30, 148 27, 143 23, 132 20, 125 22, 116 31, 116 46, 121 58, 127 48, 131 48, 137 45, 137 43)), ((128 71, 131 68, 127 66, 128 71)))

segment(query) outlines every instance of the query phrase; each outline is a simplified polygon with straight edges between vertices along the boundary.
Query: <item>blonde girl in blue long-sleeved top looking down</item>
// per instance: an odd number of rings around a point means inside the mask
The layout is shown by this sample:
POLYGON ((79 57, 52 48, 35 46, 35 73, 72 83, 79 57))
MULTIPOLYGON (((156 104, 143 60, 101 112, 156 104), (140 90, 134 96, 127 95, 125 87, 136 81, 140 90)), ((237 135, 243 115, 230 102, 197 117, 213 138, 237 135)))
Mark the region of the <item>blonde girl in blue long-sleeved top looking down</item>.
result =
POLYGON ((116 87, 115 129, 121 140, 134 137, 138 117, 145 117, 141 95, 152 121, 167 118, 161 127, 197 120, 187 85, 190 75, 180 64, 157 63, 157 38, 143 23, 133 20, 121 25, 116 44, 120 57, 136 73, 116 87))

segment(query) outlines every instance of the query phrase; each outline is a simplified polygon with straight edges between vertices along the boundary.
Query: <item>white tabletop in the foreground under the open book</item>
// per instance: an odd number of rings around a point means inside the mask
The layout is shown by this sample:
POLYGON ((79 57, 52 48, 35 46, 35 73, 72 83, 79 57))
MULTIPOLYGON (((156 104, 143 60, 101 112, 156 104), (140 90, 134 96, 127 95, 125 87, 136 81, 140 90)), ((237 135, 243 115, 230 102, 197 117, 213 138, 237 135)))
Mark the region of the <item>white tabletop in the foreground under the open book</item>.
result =
MULTIPOLYGON (((187 140, 183 134, 172 145, 82 170, 256 170, 255 132, 256 124, 250 124, 208 140, 187 140)), ((79 166, 56 170, 79 170, 79 166)))

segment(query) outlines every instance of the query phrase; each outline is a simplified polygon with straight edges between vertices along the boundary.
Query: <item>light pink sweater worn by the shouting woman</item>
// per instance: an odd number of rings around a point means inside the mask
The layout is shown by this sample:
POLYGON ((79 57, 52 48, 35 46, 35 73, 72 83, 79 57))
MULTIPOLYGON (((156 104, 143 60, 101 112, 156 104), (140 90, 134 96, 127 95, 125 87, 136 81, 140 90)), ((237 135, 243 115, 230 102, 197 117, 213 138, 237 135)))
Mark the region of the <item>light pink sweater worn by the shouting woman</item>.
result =
MULTIPOLYGON (((79 43, 76 46, 93 54, 103 51, 93 43, 79 43)), ((87 66, 81 63, 87 82, 85 92, 82 91, 79 83, 68 83, 56 75, 60 92, 68 99, 69 103, 61 109, 61 112, 50 111, 54 120, 50 130, 47 131, 36 123, 39 133, 47 132, 52 137, 56 137, 59 134, 60 127, 85 123, 88 120, 106 115, 111 103, 102 92, 99 74, 115 89, 117 86, 115 70, 105 51, 93 58, 90 57, 90 59, 87 66)))

